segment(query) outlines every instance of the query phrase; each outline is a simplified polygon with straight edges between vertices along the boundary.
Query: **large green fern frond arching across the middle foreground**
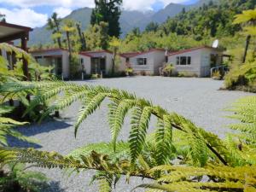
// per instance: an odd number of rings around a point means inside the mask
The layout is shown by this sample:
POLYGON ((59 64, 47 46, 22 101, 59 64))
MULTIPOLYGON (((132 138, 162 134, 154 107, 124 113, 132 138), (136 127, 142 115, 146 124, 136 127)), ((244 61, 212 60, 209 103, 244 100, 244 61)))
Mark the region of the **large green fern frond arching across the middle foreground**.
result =
MULTIPOLYGON (((115 148, 115 143, 121 129, 120 127, 123 124, 125 114, 127 114, 128 110, 132 109, 133 114, 131 116, 131 134, 129 141, 133 161, 136 160, 145 144, 145 136, 148 130, 150 116, 154 115, 160 120, 164 119, 166 116, 171 122, 172 128, 183 131, 184 134, 188 135, 189 141, 191 142, 190 154, 195 162, 204 165, 207 160, 207 154, 212 153, 215 155, 211 154, 212 158, 219 160, 225 165, 227 164, 229 151, 224 147, 224 143, 218 139, 217 136, 213 136, 212 133, 208 133, 200 127, 195 126, 188 119, 184 119, 176 113, 168 113, 163 108, 153 106, 151 102, 137 98, 122 90, 64 82, 12 82, 3 85, 1 90, 3 90, 5 95, 9 96, 15 96, 20 90, 37 92, 37 95, 32 97, 32 102, 26 112, 32 110, 32 108, 37 106, 40 102, 55 99, 57 102, 50 105, 49 110, 47 111, 47 113, 50 113, 51 111, 67 107, 79 98, 82 102, 82 108, 79 111, 78 120, 75 124, 75 134, 84 119, 93 113, 105 98, 109 98, 110 112, 108 114, 108 119, 113 137, 113 149, 115 148), (67 96, 66 99, 61 96, 63 94, 64 97, 67 96), (117 113, 120 113, 121 115, 119 116, 117 113), (209 150, 205 148, 206 146, 209 150)), ((166 126, 166 128, 168 127, 166 126)), ((166 133, 166 131, 159 131, 158 137, 165 138, 166 136, 160 136, 160 134, 166 133)))

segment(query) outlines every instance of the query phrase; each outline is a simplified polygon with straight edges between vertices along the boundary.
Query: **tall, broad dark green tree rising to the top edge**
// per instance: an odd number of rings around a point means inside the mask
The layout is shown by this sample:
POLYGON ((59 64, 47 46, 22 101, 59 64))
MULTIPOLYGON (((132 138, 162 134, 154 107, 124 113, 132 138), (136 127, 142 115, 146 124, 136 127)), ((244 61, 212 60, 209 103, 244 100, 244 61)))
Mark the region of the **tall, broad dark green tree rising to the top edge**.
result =
POLYGON ((122 2, 122 0, 95 0, 96 8, 92 10, 90 24, 93 26, 99 25, 101 21, 107 22, 108 35, 118 38, 121 33, 119 17, 122 2))

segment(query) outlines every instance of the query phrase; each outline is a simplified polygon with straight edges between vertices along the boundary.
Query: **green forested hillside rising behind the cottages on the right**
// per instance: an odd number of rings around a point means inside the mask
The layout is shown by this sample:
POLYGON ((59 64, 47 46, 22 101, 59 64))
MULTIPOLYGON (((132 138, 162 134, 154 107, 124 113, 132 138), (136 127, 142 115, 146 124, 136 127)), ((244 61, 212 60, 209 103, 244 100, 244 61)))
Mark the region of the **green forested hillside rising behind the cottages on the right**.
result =
POLYGON ((160 47, 186 49, 201 44, 211 45, 215 38, 225 48, 243 46, 241 25, 233 24, 235 15, 254 9, 256 0, 219 0, 203 3, 198 9, 183 9, 160 26, 151 23, 146 32, 130 32, 123 41, 122 51, 137 51, 160 47))

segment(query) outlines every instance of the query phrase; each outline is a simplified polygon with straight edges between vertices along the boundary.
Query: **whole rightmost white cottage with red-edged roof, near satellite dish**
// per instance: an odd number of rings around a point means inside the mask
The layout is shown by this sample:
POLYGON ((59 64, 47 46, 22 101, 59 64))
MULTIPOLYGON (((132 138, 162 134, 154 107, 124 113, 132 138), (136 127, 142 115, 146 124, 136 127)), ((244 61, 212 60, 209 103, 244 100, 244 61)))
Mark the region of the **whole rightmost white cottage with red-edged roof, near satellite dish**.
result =
POLYGON ((168 55, 168 63, 172 64, 176 73, 190 73, 197 77, 209 77, 212 67, 223 62, 223 51, 208 46, 183 49, 168 55))

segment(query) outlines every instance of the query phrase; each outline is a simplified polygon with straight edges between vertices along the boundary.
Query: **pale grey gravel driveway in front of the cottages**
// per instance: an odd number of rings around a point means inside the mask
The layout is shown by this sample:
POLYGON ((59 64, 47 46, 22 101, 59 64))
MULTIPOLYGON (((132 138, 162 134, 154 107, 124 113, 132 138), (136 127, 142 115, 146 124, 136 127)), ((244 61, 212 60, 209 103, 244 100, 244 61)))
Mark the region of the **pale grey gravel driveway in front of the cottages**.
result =
MULTIPOLYGON (((223 81, 212 79, 135 77, 78 81, 77 83, 101 84, 134 92, 137 96, 145 97, 169 111, 183 114, 186 118, 192 119, 196 125, 200 125, 220 137, 224 137, 224 133, 227 131, 225 127, 232 122, 231 119, 224 118, 229 113, 223 109, 229 107, 232 102, 242 96, 253 95, 241 91, 218 90, 223 85, 223 81)), ((61 154, 68 154, 73 149, 87 143, 110 141, 106 105, 84 121, 79 129, 78 137, 74 138, 72 125, 79 107, 79 103, 75 103, 61 112, 62 116, 65 117, 64 120, 47 122, 42 125, 31 125, 28 129, 20 128, 20 131, 27 136, 40 140, 38 145, 32 147, 49 151, 54 150, 61 154)), ((151 129, 154 128, 154 124, 150 126, 151 129)), ((128 137, 129 128, 129 122, 126 119, 120 139, 128 137)), ((27 143, 15 142, 15 145, 17 144, 23 147, 31 146, 27 143)), ((96 185, 87 185, 90 183, 90 176, 93 172, 82 172, 71 177, 63 175, 57 169, 43 170, 43 172, 53 181, 50 188, 45 189, 45 191, 98 191, 96 185)), ((123 180, 115 191, 131 191, 138 183, 142 182, 136 178, 131 179, 130 185, 125 184, 123 180)))

